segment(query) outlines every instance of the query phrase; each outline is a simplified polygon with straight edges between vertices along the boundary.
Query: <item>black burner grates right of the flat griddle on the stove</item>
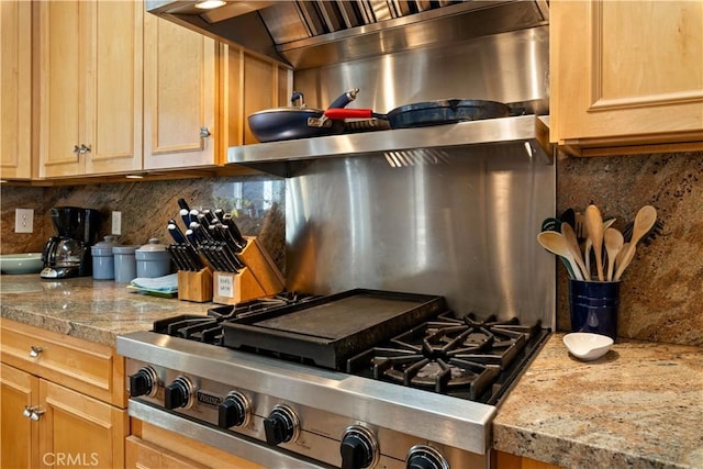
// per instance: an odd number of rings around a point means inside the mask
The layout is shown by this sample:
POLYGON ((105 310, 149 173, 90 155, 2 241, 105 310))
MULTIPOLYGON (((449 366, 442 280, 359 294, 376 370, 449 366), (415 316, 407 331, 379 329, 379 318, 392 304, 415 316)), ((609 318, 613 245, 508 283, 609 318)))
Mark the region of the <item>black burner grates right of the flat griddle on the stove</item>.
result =
POLYGON ((500 391, 503 370, 540 332, 539 322, 524 326, 517 319, 455 319, 447 312, 350 358, 347 372, 476 401, 500 391))

